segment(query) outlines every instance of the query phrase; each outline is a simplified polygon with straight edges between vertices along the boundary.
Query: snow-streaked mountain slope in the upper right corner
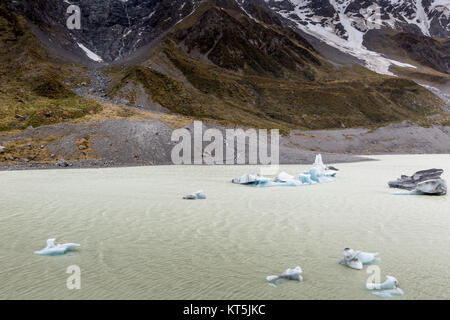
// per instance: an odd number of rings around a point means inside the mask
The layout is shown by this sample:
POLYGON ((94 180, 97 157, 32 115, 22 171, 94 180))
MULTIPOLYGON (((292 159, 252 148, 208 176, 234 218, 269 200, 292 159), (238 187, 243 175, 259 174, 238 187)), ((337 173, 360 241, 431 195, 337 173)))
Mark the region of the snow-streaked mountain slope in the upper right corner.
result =
MULTIPOLYGON (((250 0, 254 2, 258 0, 250 0)), ((244 7, 249 1, 240 0, 244 7)), ((378 73, 391 66, 414 68, 367 50, 364 38, 374 29, 450 39, 449 0, 266 0, 294 28, 364 61, 378 73)))

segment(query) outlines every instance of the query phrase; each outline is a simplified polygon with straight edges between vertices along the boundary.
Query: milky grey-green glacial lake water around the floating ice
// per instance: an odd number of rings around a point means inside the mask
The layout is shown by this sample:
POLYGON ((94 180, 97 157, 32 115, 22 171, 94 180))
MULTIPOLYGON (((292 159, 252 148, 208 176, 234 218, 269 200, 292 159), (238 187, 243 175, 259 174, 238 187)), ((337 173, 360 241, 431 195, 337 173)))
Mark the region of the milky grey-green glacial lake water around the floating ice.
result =
POLYGON ((381 299, 367 267, 338 264, 345 247, 379 252, 397 299, 449 299, 449 196, 387 182, 434 167, 448 180, 450 155, 373 158, 337 164, 333 183, 278 188, 231 184, 258 172, 245 166, 0 172, 0 299, 381 299), (199 189, 207 200, 182 200, 199 189), (48 238, 81 248, 35 255, 48 238), (80 290, 66 287, 72 265, 80 290), (304 282, 267 283, 297 265, 304 282))

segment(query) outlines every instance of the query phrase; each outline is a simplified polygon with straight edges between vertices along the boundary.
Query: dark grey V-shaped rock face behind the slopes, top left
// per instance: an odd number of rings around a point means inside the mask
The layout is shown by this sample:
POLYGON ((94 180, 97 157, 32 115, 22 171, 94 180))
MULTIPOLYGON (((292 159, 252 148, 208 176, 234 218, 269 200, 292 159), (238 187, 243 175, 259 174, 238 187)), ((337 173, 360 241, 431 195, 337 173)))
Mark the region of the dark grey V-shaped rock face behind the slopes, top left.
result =
MULTIPOLYGON (((194 10, 197 0, 72 0, 81 9, 81 30, 68 30, 63 0, 7 0, 66 49, 77 43, 111 62, 126 57, 168 31, 194 10)), ((72 47, 71 47, 72 46, 72 47)), ((79 49, 79 48, 78 48, 79 49)))

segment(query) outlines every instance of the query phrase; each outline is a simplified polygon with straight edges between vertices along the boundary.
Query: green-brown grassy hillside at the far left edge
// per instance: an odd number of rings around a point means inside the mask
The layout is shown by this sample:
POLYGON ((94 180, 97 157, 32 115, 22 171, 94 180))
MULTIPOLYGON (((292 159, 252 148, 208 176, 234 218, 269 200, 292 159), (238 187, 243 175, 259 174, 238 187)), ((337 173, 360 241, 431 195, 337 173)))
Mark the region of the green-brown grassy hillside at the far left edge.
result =
POLYGON ((100 106, 68 88, 89 81, 80 67, 48 55, 26 21, 0 6, 0 131, 58 123, 100 106))

